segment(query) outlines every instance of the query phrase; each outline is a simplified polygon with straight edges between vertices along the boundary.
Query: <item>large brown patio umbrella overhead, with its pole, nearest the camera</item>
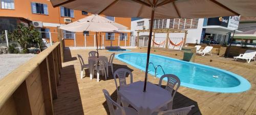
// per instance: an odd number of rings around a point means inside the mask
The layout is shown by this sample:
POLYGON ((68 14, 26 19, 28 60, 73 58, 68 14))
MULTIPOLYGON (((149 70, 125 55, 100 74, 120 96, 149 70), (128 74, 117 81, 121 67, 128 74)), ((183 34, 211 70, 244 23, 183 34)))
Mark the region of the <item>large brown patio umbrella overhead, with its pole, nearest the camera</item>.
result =
MULTIPOLYGON (((148 44, 151 44, 154 18, 256 16, 255 0, 51 0, 51 3, 53 7, 64 6, 93 14, 151 18, 148 44)), ((146 91, 150 48, 148 45, 143 91, 146 91)))

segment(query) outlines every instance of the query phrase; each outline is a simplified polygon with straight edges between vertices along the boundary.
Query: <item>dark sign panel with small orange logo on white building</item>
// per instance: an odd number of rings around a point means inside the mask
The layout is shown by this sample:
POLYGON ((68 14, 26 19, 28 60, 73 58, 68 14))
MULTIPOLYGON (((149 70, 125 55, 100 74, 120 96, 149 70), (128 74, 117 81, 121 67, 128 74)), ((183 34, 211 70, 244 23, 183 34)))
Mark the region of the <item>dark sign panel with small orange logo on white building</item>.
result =
POLYGON ((208 18, 207 26, 228 27, 229 16, 208 18))

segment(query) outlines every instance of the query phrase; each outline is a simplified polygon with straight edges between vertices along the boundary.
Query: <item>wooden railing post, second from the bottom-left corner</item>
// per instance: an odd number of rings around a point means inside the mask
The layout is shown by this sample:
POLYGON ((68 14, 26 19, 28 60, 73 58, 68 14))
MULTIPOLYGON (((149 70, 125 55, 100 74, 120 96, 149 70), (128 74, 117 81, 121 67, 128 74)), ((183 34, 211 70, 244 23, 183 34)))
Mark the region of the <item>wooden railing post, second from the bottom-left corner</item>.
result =
MULTIPOLYGON (((46 58, 39 65, 41 83, 42 83, 42 93, 44 95, 45 110, 46 114, 53 115, 53 103, 52 103, 52 85, 50 79, 50 68, 49 68, 48 58, 46 58)), ((57 97, 56 97, 57 98, 57 97)))

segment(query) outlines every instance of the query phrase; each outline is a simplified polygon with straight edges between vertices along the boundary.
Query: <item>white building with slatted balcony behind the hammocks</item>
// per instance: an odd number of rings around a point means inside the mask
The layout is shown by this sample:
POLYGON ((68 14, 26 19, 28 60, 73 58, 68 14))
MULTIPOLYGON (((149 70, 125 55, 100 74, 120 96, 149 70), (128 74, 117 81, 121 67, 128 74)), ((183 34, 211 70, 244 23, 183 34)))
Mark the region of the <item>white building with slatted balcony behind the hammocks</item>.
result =
MULTIPOLYGON (((186 43, 203 43, 205 38, 214 39, 215 43, 223 44, 228 41, 227 33, 237 29, 239 16, 226 16, 216 18, 199 19, 154 19, 153 29, 172 28, 187 30, 186 43)), ((139 19, 132 21, 132 35, 137 37, 137 30, 147 30, 150 28, 150 19, 139 19)), ((148 32, 139 33, 139 46, 147 45, 148 32), (144 43, 143 43, 144 39, 144 43), (144 45, 143 45, 144 44, 144 45)), ((161 43, 166 38, 166 34, 155 34, 155 42, 161 43)), ((178 43, 184 39, 184 33, 170 33, 170 40, 178 43)), ((163 47, 163 46, 159 46, 163 47)), ((174 48, 169 45, 169 48, 174 48)))

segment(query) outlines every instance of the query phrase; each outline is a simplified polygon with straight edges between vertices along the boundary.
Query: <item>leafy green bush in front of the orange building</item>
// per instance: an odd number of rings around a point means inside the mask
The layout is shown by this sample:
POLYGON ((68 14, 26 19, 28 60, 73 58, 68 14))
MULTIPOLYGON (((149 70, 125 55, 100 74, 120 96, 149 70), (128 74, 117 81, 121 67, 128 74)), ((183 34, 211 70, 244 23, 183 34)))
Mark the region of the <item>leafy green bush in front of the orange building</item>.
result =
POLYGON ((8 38, 16 41, 23 48, 22 53, 28 53, 28 48, 41 44, 42 39, 39 38, 40 32, 35 30, 33 26, 25 26, 19 24, 13 32, 8 32, 8 38))

